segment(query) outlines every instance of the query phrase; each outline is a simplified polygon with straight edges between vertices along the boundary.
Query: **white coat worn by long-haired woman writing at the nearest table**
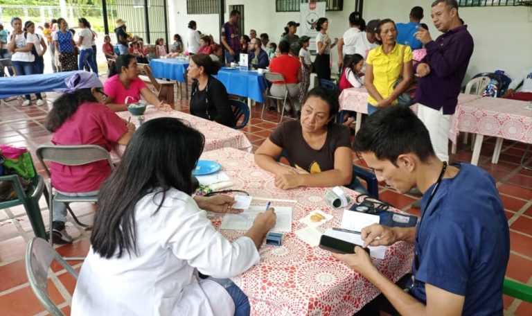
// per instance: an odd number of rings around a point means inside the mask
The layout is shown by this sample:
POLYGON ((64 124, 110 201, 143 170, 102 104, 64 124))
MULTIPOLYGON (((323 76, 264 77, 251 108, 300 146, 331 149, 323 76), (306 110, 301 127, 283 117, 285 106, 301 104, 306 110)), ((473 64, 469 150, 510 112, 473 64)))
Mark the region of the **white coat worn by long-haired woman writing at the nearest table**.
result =
POLYGON ((189 195, 172 189, 135 207, 138 255, 105 259, 91 249, 80 271, 72 315, 233 315, 224 288, 203 274, 234 277, 258 263, 251 238, 231 243, 189 195))

